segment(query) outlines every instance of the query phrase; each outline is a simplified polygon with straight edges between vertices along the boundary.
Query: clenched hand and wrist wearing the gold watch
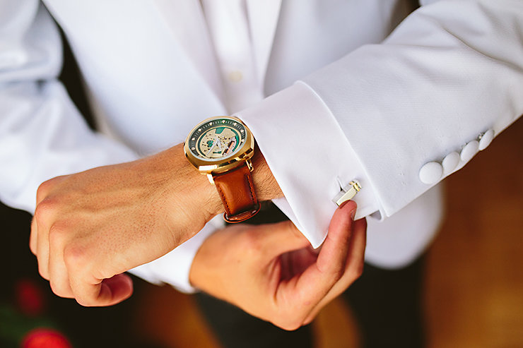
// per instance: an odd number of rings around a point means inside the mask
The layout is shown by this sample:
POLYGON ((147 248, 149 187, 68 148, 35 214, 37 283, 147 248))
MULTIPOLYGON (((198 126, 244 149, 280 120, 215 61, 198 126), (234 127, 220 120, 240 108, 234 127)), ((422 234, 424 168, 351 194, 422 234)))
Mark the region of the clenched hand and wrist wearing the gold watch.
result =
MULTIPOLYGON (((259 198, 281 196, 261 154, 254 166, 259 198)), ((132 293, 123 272, 168 253, 220 212, 216 188, 177 145, 43 183, 30 248, 55 294, 110 306, 132 293)))

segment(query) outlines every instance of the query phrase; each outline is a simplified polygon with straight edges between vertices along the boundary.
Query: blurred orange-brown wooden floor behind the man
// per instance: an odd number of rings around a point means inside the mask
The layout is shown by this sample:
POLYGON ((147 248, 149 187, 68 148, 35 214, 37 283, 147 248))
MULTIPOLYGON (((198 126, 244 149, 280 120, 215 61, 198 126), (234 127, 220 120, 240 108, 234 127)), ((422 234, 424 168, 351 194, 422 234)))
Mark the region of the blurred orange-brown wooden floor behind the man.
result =
MULTIPOLYGON (((428 256, 428 347, 523 347, 523 120, 446 180, 447 220, 428 256)), ((191 296, 141 295, 136 327, 165 347, 219 347, 191 296)), ((317 347, 358 347, 350 308, 315 321, 317 347), (350 340, 347 340, 350 337, 350 340)))

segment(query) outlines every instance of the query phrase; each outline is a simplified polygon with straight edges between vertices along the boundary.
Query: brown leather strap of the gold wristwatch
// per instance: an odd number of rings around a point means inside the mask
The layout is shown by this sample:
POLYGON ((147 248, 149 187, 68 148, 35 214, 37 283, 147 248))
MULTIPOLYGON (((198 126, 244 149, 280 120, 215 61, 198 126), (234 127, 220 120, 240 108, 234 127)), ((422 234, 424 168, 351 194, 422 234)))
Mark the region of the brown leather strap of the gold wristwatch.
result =
POLYGON ((252 176, 247 163, 223 174, 213 174, 214 184, 223 201, 227 222, 242 222, 259 212, 252 176))

